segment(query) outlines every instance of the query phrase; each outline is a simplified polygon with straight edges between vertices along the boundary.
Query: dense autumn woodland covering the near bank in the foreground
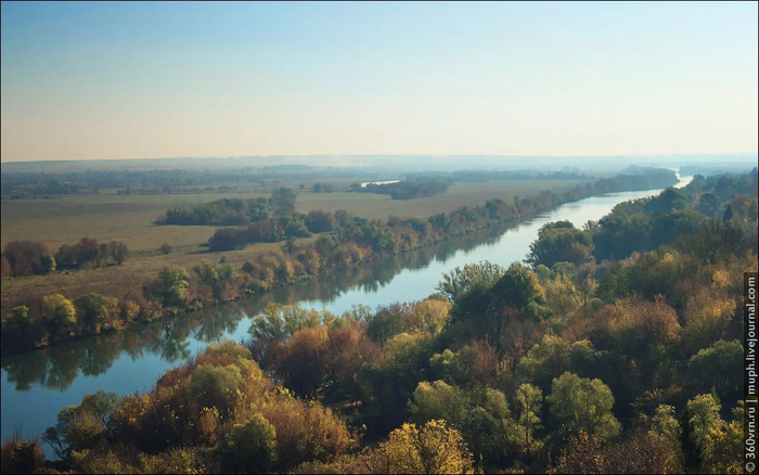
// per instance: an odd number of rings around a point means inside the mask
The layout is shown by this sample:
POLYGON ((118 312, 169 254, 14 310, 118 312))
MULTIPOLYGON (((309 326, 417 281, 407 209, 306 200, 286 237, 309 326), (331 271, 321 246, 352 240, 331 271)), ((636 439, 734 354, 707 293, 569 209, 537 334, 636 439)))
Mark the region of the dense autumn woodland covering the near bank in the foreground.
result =
MULTIPOLYGON (((39 440, 5 441, 3 468, 743 471, 756 169, 623 203, 582 230, 549 223, 529 264, 456 268, 439 293, 375 311, 269 305, 249 341, 208 347, 151 391, 63 409, 43 436, 55 462, 39 440), (626 229, 642 231, 609 244, 626 229)), ((211 292, 226 272, 195 269, 211 292)), ((188 300, 186 286, 160 290, 166 305, 188 300)))

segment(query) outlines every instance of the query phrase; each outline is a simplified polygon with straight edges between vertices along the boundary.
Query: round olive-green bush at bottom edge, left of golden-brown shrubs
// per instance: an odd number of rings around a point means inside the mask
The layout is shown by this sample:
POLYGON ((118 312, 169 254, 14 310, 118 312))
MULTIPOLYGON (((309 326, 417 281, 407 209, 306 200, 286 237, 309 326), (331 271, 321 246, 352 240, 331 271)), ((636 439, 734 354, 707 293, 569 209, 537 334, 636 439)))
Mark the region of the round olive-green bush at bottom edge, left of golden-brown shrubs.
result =
POLYGON ((276 463, 276 431, 261 414, 235 424, 220 449, 223 471, 266 473, 276 463))

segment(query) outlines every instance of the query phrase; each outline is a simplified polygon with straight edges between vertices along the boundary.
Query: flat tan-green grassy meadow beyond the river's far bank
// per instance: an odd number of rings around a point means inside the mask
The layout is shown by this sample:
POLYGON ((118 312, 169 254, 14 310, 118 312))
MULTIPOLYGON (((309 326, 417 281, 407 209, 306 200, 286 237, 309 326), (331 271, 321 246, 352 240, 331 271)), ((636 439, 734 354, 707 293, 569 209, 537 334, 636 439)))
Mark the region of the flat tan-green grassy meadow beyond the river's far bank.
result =
MULTIPOLYGON (((450 211, 464 205, 477 205, 500 197, 506 201, 515 195, 537 195, 551 189, 563 192, 577 181, 492 181, 486 183, 458 183, 446 193, 429 197, 393 201, 387 195, 370 193, 300 192, 297 209, 335 211, 347 209, 357 216, 386 219, 390 215, 426 217, 450 211)), ((297 187, 294 187, 297 188, 297 187)), ((188 269, 201 259, 219 260, 240 267, 246 259, 261 252, 278 249, 281 243, 249 245, 243 251, 208 253, 201 247, 214 234, 215 227, 155 226, 153 220, 166 208, 179 202, 201 203, 221 197, 268 196, 268 190, 249 193, 197 194, 197 195, 131 195, 115 193, 64 196, 60 200, 3 201, 2 245, 21 239, 41 241, 55 251, 63 243, 75 243, 82 236, 99 241, 119 240, 127 243, 132 258, 121 266, 111 266, 88 271, 57 271, 51 275, 29 275, 2 281, 2 312, 10 311, 21 301, 51 293, 76 297, 89 292, 105 295, 123 295, 127 290, 143 283, 166 265, 188 269), (175 252, 160 255, 163 243, 175 246, 175 252)), ((316 238, 298 240, 308 242, 316 238)))

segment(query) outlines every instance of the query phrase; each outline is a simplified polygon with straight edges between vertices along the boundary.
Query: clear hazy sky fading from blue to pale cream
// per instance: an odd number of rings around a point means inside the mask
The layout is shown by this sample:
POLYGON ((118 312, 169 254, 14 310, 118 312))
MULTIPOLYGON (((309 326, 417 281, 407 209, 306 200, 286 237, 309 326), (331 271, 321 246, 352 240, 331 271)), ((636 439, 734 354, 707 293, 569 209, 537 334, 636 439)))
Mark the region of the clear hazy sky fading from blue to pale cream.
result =
POLYGON ((2 3, 2 162, 757 152, 757 3, 2 3))

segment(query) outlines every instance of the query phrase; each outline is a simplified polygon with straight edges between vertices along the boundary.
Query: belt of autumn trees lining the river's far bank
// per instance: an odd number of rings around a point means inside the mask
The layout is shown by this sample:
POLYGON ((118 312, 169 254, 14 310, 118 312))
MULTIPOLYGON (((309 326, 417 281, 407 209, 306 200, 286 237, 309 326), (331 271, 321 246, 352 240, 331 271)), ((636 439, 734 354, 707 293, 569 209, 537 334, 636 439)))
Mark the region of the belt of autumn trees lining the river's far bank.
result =
MULTIPOLYGON (((642 178, 644 179, 644 178, 642 178)), ((634 184, 634 178, 618 181, 619 189, 634 184)), ((288 241, 282 252, 258 254, 241 270, 229 265, 203 261, 193 268, 191 279, 184 268, 165 267, 149 280, 141 292, 120 300, 89 294, 69 300, 53 294, 40 301, 17 307, 3 317, 3 351, 22 351, 64 342, 102 331, 124 329, 133 322, 151 321, 165 314, 202 308, 218 301, 234 300, 244 295, 263 292, 317 275, 343 271, 357 264, 404 253, 499 223, 533 217, 563 203, 607 192, 588 183, 562 193, 543 191, 538 196, 518 198, 514 203, 490 200, 480 206, 464 206, 426 219, 390 217, 386 222, 358 218, 345 210, 335 214, 292 211, 295 194, 288 189, 272 193, 274 215, 246 228, 223 228, 209 240, 213 251, 244 247, 247 242, 279 241, 293 235, 307 235, 308 223, 314 232, 334 230, 316 242, 297 245, 288 241), (317 231, 319 230, 319 231, 317 231), (80 300, 83 297, 88 299, 80 300)), ((9 244, 10 245, 10 244, 9 244)))

